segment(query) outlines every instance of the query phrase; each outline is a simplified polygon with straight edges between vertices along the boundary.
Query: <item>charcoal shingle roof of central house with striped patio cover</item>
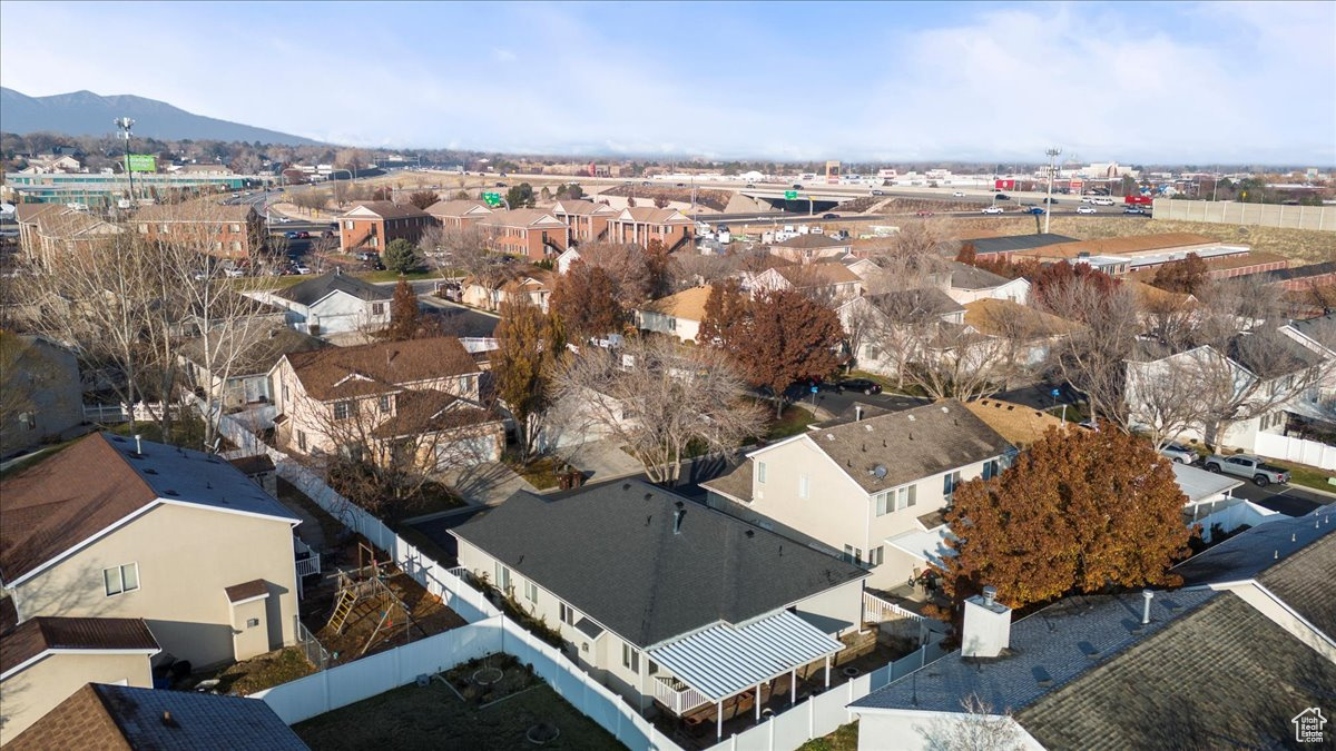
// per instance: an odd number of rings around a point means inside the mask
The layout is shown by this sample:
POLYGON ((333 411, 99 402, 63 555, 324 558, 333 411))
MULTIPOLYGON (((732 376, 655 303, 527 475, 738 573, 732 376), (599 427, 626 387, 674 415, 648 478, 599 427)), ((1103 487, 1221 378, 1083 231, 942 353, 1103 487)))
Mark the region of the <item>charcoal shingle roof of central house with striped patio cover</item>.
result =
POLYGON ((452 531, 639 647, 736 624, 867 572, 627 480, 561 497, 516 493, 452 531), (673 516, 681 504, 681 533, 673 516))

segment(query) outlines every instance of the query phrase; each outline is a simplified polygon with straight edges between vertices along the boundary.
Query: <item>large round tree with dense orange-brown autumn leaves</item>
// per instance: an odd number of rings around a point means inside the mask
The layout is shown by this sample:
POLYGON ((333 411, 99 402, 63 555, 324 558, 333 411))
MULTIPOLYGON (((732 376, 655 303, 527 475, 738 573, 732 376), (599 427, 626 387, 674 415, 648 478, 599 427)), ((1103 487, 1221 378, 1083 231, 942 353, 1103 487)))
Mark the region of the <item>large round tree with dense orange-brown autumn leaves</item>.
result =
POLYGON ((1174 585, 1196 531, 1170 464, 1122 430, 1049 432, 993 480, 955 490, 943 559, 953 612, 985 585, 1013 608, 1075 592, 1174 585))

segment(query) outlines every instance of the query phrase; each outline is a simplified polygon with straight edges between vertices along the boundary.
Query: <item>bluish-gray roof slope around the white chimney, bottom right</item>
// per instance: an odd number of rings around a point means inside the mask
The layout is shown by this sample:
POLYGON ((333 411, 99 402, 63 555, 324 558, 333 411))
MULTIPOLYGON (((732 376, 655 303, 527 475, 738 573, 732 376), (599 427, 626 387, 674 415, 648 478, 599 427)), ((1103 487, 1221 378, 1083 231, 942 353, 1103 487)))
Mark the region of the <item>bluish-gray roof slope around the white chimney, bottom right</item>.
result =
POLYGON ((967 659, 957 649, 852 706, 961 712, 961 700, 973 694, 994 711, 1019 711, 1216 596, 1222 595, 1209 589, 1157 593, 1142 633, 1134 632, 1141 624, 1140 592, 1069 597, 1013 623, 1010 651, 1003 656, 967 659), (1089 657, 1092 652, 1100 659, 1089 657), (1041 686, 1041 676, 1050 686, 1041 686))

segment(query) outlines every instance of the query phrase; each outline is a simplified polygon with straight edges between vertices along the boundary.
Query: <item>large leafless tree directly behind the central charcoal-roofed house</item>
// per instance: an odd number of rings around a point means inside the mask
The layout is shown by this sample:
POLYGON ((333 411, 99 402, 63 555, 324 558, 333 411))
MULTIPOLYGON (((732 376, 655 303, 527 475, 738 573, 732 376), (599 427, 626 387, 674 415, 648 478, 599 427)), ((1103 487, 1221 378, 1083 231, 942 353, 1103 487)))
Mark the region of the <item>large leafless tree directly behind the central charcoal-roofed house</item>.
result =
POLYGON ((611 436, 659 484, 677 482, 688 456, 733 450, 764 425, 723 353, 667 338, 631 339, 616 351, 584 347, 556 386, 552 420, 568 432, 611 436))

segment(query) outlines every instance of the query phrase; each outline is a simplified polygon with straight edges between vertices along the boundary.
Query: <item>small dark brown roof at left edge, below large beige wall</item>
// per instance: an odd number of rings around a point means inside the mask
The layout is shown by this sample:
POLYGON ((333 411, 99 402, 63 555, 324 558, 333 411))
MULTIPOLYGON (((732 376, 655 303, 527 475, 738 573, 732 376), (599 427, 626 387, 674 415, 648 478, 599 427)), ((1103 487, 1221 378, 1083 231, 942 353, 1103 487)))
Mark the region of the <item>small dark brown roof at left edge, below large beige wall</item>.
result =
POLYGON ((47 649, 156 651, 158 640, 138 617, 35 617, 4 635, 0 673, 47 649))

